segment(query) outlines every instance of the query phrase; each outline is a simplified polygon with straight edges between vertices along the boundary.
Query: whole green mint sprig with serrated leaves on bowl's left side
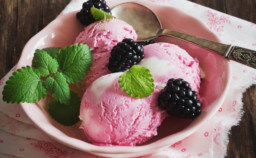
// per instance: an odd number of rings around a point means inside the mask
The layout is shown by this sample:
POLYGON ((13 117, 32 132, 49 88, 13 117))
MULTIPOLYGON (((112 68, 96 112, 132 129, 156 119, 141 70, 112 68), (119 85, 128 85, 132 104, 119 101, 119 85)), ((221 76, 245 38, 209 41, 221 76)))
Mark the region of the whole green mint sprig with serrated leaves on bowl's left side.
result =
POLYGON ((76 44, 64 49, 37 49, 32 67, 22 67, 6 81, 3 101, 7 103, 36 102, 49 90, 55 98, 49 104, 52 118, 63 125, 79 121, 80 98, 70 92, 69 83, 83 79, 92 65, 88 45, 76 44))

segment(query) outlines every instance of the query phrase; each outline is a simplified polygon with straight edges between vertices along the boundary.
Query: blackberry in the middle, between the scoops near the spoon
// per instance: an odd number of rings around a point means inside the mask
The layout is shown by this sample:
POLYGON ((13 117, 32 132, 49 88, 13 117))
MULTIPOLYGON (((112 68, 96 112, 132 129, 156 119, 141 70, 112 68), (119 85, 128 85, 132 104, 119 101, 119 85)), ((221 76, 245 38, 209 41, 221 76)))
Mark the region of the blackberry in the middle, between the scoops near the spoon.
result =
POLYGON ((108 69, 112 73, 124 72, 144 58, 144 47, 126 38, 113 47, 110 55, 108 69))

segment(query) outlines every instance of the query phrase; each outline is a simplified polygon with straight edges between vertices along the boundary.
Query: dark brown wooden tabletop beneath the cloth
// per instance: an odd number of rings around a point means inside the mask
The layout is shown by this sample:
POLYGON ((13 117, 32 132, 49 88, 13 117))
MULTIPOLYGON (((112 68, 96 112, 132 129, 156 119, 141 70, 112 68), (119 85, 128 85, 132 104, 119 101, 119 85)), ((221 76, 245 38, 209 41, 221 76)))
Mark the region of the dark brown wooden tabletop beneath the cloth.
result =
MULTIPOLYGON (((190 0, 256 23, 256 0, 190 0)), ((19 60, 26 42, 43 29, 69 0, 0 0, 0 78, 19 60)), ((231 129, 227 158, 256 157, 256 86, 243 94, 245 111, 231 129)))

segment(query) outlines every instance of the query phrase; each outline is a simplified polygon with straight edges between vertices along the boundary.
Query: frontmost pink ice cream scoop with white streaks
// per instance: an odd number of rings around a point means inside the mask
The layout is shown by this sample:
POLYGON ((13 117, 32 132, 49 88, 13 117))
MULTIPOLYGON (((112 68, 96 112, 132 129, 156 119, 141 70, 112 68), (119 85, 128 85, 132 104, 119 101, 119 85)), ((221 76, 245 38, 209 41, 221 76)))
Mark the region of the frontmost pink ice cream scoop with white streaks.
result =
POLYGON ((135 146, 157 135, 167 113, 157 106, 159 90, 147 98, 127 95, 118 83, 122 73, 95 80, 85 91, 81 107, 81 128, 97 145, 135 146))

